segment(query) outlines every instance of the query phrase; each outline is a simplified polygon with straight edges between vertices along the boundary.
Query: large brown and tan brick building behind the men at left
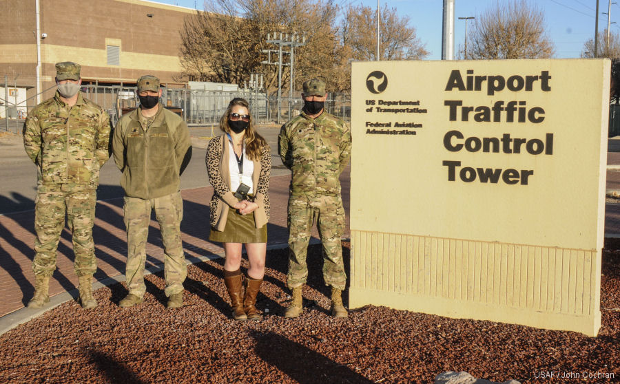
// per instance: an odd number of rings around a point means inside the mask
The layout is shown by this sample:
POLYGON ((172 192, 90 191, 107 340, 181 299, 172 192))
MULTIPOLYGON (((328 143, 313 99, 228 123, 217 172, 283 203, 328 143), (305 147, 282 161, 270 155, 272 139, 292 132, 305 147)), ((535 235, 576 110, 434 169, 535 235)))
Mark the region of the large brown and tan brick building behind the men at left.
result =
POLYGON ((2 3, 0 76, 32 87, 28 98, 52 96, 59 61, 80 63, 85 84, 132 85, 153 74, 169 87, 185 86, 178 79, 179 31, 195 10, 144 0, 2 3))

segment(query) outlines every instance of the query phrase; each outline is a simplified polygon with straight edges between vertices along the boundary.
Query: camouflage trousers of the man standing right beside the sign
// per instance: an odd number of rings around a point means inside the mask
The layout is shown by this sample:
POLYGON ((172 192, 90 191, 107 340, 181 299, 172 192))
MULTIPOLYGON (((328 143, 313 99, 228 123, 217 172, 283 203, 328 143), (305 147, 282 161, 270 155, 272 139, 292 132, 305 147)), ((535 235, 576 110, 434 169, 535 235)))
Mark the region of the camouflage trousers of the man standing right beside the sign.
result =
POLYGON ((311 228, 316 221, 323 244, 323 279, 325 284, 344 289, 347 275, 342 262, 340 238, 344 233, 344 208, 340 196, 289 198, 289 273, 287 286, 302 286, 308 277, 306 257, 311 228))

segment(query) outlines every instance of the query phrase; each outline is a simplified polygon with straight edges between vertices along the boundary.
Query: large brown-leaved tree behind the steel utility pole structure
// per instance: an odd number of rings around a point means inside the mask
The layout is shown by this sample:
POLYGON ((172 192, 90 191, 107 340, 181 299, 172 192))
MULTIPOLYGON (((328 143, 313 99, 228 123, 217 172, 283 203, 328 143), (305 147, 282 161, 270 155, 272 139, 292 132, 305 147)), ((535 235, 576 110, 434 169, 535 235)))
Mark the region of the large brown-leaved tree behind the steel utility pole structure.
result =
MULTIPOLYGON (((205 12, 185 19, 180 60, 189 80, 242 84, 251 73, 266 74, 266 87, 274 92, 278 68, 262 65, 262 52, 276 46, 267 33, 306 33, 306 45, 295 52, 296 88, 311 77, 328 83, 335 70, 335 17, 333 0, 207 0, 205 12)), ((285 47, 283 61, 288 62, 285 47)), ((272 56, 273 61, 273 56, 272 56)), ((284 67, 282 85, 290 78, 284 67)))

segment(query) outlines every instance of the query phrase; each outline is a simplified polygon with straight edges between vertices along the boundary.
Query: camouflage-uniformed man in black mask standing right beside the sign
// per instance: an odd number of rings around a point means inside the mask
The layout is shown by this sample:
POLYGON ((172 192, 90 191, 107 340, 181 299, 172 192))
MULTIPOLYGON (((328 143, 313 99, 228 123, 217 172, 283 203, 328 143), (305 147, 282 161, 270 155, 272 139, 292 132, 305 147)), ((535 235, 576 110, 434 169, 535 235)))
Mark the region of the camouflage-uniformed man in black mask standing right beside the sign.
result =
POLYGON ((302 312, 302 286, 308 277, 307 248, 316 220, 323 244, 323 279, 331 286, 331 312, 335 317, 347 317, 341 295, 347 275, 340 245, 344 209, 338 177, 351 155, 351 131, 344 121, 324 111, 327 93, 323 81, 312 79, 303 88, 302 113, 283 125, 278 136, 282 163, 293 173, 287 275, 293 300, 285 316, 298 317, 302 312))

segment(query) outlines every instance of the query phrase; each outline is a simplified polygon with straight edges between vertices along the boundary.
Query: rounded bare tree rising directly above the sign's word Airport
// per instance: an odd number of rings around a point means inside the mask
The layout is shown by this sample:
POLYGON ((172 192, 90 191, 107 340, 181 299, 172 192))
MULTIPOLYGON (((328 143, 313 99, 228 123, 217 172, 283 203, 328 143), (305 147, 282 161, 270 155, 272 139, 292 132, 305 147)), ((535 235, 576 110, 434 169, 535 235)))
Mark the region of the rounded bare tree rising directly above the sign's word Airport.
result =
POLYGON ((550 58, 544 12, 526 0, 498 1, 473 23, 467 56, 475 59, 550 58))

